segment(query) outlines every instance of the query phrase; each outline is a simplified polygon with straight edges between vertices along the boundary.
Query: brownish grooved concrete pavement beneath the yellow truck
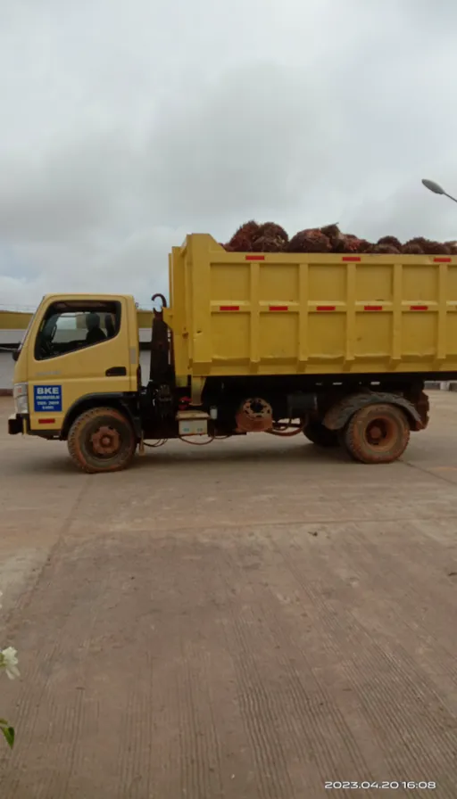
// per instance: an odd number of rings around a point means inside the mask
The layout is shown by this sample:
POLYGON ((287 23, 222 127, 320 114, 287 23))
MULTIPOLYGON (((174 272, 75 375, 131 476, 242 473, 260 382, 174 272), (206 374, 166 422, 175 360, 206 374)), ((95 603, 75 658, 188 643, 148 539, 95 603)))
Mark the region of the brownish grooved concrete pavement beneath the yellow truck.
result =
POLYGON ((457 394, 392 466, 260 436, 96 476, 10 408, 2 799, 455 799, 457 394))

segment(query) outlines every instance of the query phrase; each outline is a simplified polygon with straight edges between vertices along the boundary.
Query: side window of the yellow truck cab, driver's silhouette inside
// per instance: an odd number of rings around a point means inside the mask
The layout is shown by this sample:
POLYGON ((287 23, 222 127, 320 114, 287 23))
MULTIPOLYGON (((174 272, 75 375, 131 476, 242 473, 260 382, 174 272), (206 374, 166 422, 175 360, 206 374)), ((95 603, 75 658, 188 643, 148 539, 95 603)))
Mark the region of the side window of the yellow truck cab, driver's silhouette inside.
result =
POLYGON ((120 331, 120 302, 54 302, 40 325, 35 358, 56 358, 94 347, 120 331))

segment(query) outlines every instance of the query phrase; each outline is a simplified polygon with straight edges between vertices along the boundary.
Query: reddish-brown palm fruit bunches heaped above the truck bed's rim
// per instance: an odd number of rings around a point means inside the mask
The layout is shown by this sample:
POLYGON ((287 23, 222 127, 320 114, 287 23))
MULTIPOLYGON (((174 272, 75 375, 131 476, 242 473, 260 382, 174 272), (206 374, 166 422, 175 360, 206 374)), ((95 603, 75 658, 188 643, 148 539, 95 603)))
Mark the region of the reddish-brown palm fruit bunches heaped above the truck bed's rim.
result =
POLYGON ((432 242, 421 236, 402 244, 394 235, 378 242, 367 242, 337 225, 300 230, 290 240, 283 227, 275 222, 259 225, 253 220, 238 227, 227 244, 228 252, 378 252, 384 255, 457 255, 457 242, 432 242))

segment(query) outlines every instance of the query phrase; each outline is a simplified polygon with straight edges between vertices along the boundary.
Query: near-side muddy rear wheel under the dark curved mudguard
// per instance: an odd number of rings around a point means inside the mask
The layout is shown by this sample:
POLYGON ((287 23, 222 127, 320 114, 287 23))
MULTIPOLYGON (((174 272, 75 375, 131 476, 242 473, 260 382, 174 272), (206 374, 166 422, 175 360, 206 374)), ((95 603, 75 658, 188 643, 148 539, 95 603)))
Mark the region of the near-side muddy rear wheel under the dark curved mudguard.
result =
POLYGON ((379 404, 351 416, 344 432, 345 449, 362 464, 390 464, 403 455, 410 425, 401 408, 379 404))

